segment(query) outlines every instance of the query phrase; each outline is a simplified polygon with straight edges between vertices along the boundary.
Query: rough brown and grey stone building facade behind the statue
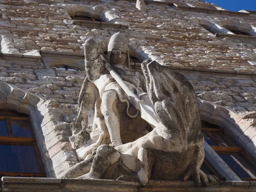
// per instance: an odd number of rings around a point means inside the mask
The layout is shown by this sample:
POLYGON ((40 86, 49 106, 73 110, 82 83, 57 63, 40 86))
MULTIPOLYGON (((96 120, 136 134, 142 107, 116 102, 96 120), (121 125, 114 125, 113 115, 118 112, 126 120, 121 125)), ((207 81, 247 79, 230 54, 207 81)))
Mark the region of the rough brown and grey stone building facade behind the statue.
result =
POLYGON ((69 137, 86 75, 84 41, 95 38, 105 52, 119 31, 131 42, 131 56, 155 59, 183 73, 195 88, 201 118, 230 130, 256 157, 255 38, 218 38, 202 25, 250 32, 255 13, 229 12, 201 0, 146 2, 146 11, 135 3, 0 0, 0 106, 30 115, 47 177, 58 177, 79 162, 69 137), (77 23, 74 15, 108 24, 77 23), (81 71, 50 68, 63 64, 81 71))

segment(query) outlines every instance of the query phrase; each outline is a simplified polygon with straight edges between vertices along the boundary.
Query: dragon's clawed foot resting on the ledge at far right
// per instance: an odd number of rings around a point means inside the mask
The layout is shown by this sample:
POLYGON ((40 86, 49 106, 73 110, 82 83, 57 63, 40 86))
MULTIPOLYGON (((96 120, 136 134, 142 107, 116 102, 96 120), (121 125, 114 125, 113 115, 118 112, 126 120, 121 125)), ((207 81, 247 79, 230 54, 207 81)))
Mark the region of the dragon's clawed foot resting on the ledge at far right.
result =
POLYGON ((196 186, 214 186, 218 181, 218 177, 215 177, 214 175, 207 175, 200 169, 189 169, 183 178, 183 181, 187 180, 194 180, 196 186))

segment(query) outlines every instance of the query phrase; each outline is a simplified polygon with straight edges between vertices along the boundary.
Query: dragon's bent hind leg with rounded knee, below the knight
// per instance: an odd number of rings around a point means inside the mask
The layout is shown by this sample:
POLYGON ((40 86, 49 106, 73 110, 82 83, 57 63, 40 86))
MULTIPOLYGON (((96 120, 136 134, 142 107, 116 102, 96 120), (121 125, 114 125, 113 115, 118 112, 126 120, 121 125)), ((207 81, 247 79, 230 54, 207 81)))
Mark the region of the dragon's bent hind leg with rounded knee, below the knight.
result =
POLYGON ((81 176, 84 179, 101 179, 105 171, 118 160, 120 160, 120 153, 109 145, 100 145, 97 148, 96 155, 90 172, 81 176))

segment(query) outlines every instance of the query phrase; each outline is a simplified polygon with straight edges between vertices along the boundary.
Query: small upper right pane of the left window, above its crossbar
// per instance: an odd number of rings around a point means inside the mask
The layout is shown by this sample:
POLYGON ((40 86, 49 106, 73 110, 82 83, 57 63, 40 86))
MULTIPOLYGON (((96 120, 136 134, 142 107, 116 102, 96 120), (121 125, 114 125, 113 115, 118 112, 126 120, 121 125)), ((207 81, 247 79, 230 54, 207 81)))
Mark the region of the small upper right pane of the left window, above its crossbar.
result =
POLYGON ((27 121, 11 121, 14 137, 32 137, 30 125, 27 121))

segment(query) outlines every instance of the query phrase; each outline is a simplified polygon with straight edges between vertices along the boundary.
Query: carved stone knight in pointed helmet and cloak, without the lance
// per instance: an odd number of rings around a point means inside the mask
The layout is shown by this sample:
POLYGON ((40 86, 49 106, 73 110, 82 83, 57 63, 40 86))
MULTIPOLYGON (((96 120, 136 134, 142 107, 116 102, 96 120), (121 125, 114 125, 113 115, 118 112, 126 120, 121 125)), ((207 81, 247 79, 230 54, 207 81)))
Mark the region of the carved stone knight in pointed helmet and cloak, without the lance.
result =
MULTIPOLYGON (((79 95, 79 117, 70 141, 79 157, 85 159, 99 145, 118 146, 137 140, 148 133, 149 125, 106 70, 98 54, 98 44, 88 39, 84 47, 87 76, 79 95)), ((152 105, 144 93, 145 77, 130 69, 129 42, 120 32, 110 39, 107 60, 128 88, 152 105)))

